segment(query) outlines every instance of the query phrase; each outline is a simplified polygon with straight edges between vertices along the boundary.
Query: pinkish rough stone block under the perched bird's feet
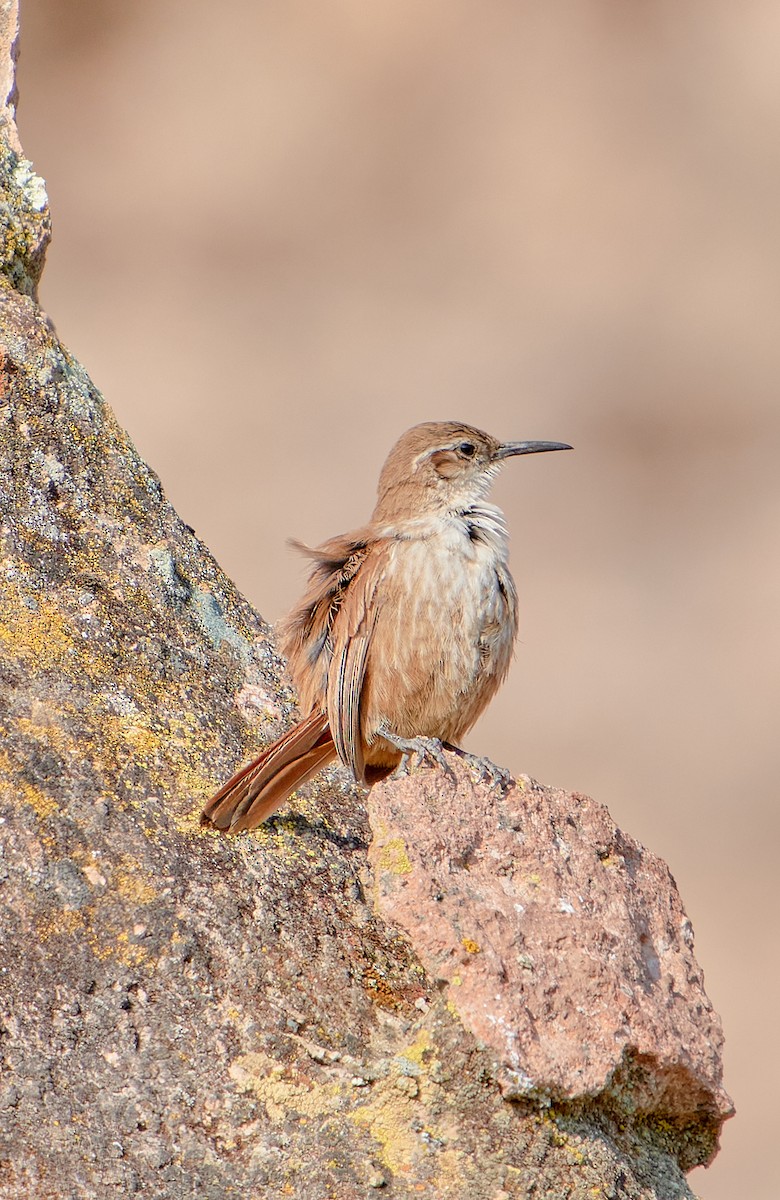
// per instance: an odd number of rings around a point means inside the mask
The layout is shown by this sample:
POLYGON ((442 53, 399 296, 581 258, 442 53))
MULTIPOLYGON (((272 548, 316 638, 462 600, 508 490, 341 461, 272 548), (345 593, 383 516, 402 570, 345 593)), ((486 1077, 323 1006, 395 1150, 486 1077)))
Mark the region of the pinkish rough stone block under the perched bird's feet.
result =
POLYGON ((586 796, 457 762, 374 787, 379 912, 406 930, 508 1099, 599 1093, 720 1128, 722 1031, 668 868, 586 796))

